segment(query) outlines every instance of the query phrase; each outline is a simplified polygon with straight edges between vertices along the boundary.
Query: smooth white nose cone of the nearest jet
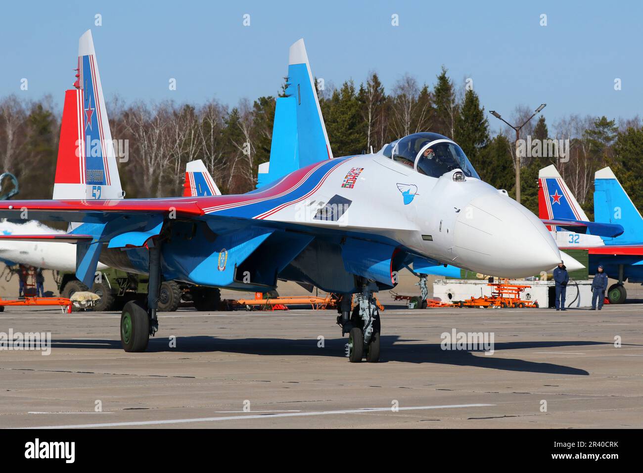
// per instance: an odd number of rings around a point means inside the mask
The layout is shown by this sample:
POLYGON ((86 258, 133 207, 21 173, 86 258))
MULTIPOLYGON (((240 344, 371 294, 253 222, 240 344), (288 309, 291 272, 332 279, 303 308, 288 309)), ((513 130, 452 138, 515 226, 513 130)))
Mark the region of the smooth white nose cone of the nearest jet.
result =
POLYGON ((455 225, 458 261, 500 277, 527 277, 561 261, 556 242, 528 209, 505 195, 485 193, 462 209, 455 225))

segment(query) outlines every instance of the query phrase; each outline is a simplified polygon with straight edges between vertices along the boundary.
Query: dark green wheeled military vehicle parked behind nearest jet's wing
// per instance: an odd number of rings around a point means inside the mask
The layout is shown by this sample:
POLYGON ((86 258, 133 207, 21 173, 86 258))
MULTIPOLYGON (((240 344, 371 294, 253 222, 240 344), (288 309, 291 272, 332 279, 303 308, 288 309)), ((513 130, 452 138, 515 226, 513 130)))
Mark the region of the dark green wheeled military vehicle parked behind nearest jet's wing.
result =
MULTIPOLYGON (((73 272, 56 272, 56 283, 61 297, 71 297, 75 292, 91 291, 100 296, 95 311, 121 310, 125 302, 147 301, 147 275, 128 273, 107 268, 96 275, 91 288, 78 281, 73 272)), ((178 281, 163 281, 159 290, 159 311, 175 311, 181 303, 194 304, 200 311, 219 310, 221 292, 217 288, 206 288, 178 281)))

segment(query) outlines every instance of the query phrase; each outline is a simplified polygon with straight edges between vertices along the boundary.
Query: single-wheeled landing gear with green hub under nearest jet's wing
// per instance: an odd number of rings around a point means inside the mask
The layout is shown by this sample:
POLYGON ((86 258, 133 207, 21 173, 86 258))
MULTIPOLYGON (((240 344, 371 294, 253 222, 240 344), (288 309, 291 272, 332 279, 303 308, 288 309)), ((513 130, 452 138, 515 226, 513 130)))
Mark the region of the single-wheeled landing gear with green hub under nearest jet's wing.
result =
POLYGON ((147 290, 147 308, 138 301, 129 301, 121 312, 121 346, 125 351, 145 351, 150 335, 159 329, 158 310, 159 288, 161 287, 161 243, 149 243, 150 279, 147 290))

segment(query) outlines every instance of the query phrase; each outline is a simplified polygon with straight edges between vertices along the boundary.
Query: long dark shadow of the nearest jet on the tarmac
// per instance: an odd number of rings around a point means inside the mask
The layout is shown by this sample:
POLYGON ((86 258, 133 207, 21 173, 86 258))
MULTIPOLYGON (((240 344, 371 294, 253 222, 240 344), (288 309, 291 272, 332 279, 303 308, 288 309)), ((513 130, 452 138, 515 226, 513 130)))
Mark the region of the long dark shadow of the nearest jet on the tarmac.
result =
MULTIPOLYGON (((532 362, 518 358, 501 358, 487 356, 472 351, 443 350, 440 344, 405 344, 413 340, 402 340, 397 335, 383 336, 381 339, 380 363, 434 363, 453 366, 472 366, 504 371, 525 371, 529 373, 548 373, 554 375, 589 375, 588 371, 571 366, 547 362, 532 362)), ((318 348, 317 339, 217 339, 197 335, 194 337, 177 337, 176 348, 170 348, 167 338, 150 339, 147 353, 240 353, 245 355, 301 356, 301 357, 334 357, 341 358, 347 338, 326 339, 325 348, 318 348)), ((514 349, 546 349, 561 347, 581 347, 593 345, 611 345, 611 342, 591 342, 568 340, 559 342, 506 342, 495 344, 496 353, 514 349)), ((120 340, 51 340, 52 348, 110 348, 121 350, 120 340)), ((131 356, 137 356, 132 354, 131 356)))

